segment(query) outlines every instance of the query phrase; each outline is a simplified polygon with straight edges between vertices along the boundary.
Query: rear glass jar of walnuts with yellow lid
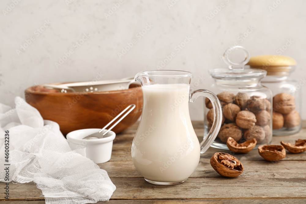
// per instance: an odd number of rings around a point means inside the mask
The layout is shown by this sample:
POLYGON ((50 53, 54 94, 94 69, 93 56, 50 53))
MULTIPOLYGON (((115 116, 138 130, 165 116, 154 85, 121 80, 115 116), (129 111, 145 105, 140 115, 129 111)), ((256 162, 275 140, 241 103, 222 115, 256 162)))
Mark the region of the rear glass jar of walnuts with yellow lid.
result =
POLYGON ((247 65, 267 71, 261 82, 273 93, 273 135, 289 135, 301 130, 301 86, 290 74, 296 61, 281 55, 260 55, 247 65))

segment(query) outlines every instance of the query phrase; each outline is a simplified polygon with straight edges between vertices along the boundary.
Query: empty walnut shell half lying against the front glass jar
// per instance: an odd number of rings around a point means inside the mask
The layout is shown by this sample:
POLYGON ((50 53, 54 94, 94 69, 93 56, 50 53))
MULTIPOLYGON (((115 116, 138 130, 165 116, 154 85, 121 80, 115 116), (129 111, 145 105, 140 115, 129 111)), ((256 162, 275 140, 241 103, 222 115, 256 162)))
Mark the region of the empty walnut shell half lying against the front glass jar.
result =
POLYGON ((246 154, 256 146, 256 143, 257 141, 255 138, 239 144, 232 137, 229 137, 227 139, 226 145, 231 151, 235 153, 246 154))

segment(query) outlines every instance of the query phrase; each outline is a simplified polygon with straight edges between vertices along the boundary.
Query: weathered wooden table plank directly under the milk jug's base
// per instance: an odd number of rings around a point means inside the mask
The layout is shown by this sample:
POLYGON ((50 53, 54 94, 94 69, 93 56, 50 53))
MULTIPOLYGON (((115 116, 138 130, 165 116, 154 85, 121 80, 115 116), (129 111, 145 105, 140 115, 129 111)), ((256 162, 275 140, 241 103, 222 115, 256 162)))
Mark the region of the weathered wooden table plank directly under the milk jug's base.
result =
MULTIPOLYGON (((305 177, 267 178, 264 175, 252 177, 241 174, 229 179, 216 175, 215 178, 188 178, 184 183, 174 186, 150 184, 143 178, 111 180, 117 187, 111 199, 306 198, 305 177)), ((1 183, 0 188, 3 187, 1 183)), ((14 199, 42 200, 40 193, 33 182, 10 187, 10 198, 14 199)))

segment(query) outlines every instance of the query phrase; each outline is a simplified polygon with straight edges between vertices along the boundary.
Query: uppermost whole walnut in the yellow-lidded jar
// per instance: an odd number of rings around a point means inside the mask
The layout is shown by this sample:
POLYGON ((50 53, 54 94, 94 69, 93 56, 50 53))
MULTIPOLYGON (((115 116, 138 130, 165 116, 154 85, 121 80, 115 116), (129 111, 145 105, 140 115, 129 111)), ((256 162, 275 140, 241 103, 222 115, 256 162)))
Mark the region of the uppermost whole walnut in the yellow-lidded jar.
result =
POLYGON ((273 111, 288 114, 295 109, 294 96, 280 93, 273 97, 273 111))

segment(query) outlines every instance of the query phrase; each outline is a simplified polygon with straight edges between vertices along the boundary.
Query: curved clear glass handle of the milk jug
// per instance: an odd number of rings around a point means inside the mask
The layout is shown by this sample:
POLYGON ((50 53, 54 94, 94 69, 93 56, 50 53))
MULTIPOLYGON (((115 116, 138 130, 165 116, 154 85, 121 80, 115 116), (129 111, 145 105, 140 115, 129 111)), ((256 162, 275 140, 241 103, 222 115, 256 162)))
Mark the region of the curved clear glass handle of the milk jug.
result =
POLYGON ((189 95, 189 102, 195 102, 199 96, 207 97, 211 101, 212 107, 214 109, 214 121, 212 123, 211 129, 208 132, 207 136, 200 143, 200 151, 201 153, 204 153, 211 146, 211 144, 214 142, 215 138, 219 133, 219 130, 222 125, 222 108, 218 97, 212 92, 205 89, 198 89, 196 91, 193 91, 189 95))

